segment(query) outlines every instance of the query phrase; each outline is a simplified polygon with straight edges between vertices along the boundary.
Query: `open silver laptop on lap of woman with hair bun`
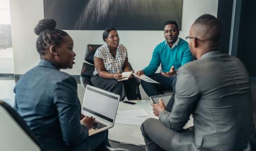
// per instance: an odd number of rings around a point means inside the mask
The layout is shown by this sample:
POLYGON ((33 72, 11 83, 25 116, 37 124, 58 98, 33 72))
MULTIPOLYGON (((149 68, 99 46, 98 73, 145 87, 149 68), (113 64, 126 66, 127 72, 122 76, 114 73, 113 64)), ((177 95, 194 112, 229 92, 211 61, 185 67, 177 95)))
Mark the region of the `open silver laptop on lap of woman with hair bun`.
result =
POLYGON ((114 126, 119 99, 117 94, 87 85, 81 113, 95 118, 95 125, 89 130, 89 136, 114 126))

